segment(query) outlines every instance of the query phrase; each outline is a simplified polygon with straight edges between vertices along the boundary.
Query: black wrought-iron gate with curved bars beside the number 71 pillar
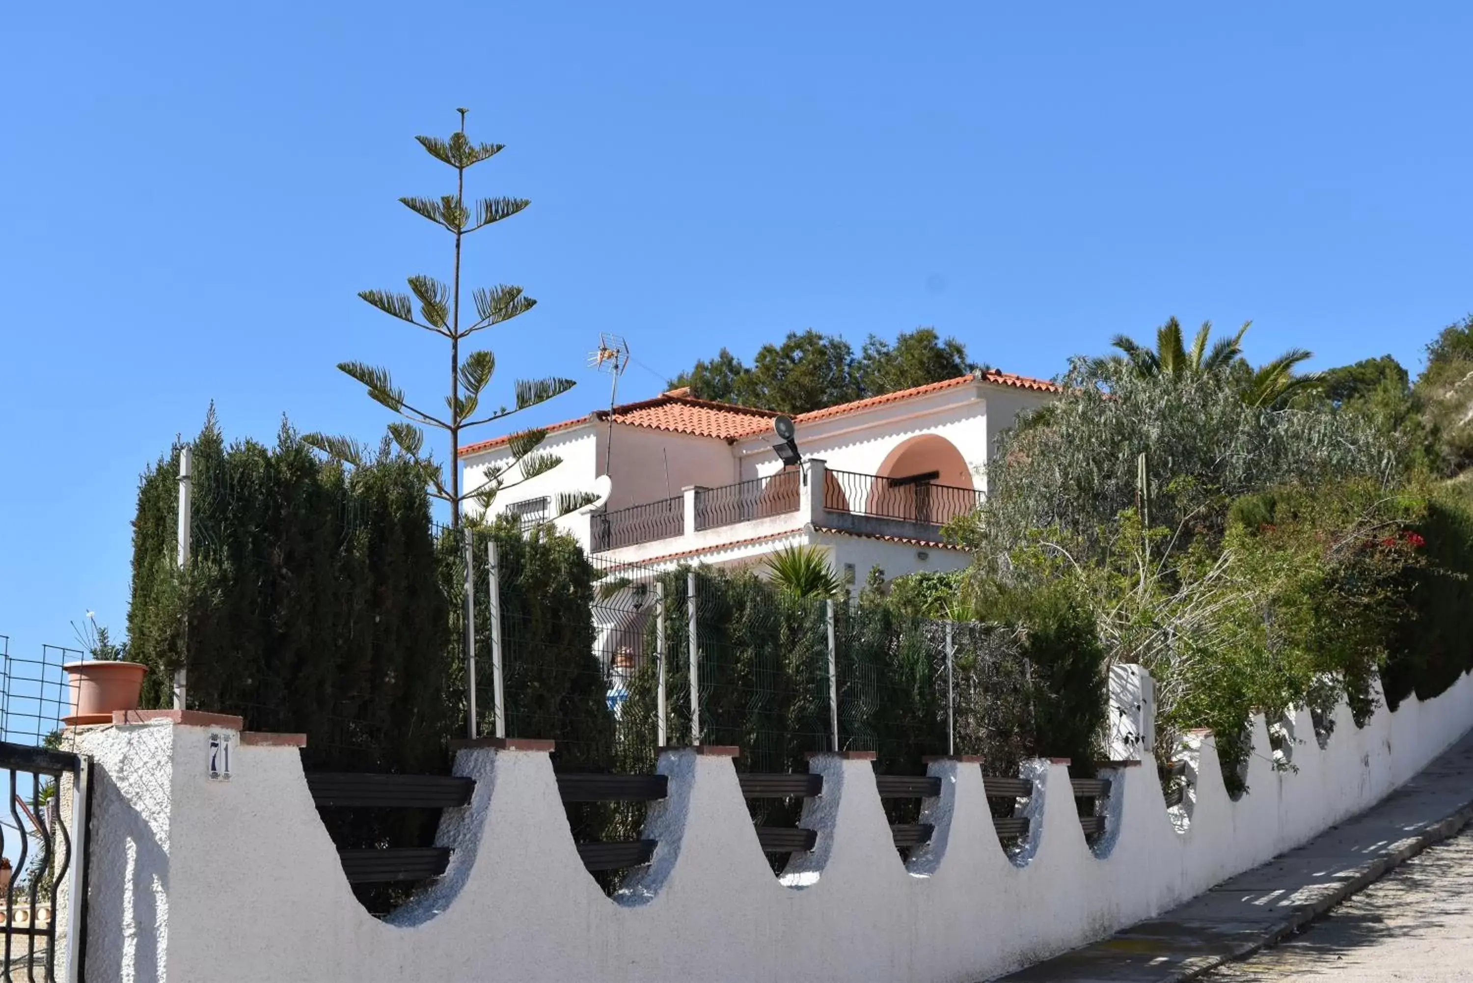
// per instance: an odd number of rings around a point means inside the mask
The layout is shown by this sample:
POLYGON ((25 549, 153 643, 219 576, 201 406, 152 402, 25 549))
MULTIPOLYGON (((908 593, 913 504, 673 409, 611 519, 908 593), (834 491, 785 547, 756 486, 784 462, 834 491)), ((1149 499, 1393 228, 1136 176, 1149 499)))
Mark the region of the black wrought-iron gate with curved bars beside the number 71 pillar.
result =
POLYGON ((81 979, 85 769, 71 752, 0 741, 0 980, 81 979))

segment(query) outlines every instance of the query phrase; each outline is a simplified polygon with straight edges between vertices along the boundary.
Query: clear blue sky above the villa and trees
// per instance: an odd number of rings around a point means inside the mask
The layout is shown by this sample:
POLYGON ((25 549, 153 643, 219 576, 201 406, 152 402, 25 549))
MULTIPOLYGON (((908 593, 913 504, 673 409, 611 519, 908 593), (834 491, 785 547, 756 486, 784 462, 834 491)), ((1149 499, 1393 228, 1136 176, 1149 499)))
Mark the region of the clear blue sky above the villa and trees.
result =
MULTIPOLYGON (((443 273, 414 143, 507 150, 470 240, 532 314, 499 379, 653 395, 722 345, 932 324, 1050 376, 1175 314, 1324 367, 1473 309, 1464 4, 16 4, 0 63, 0 634, 127 615, 138 473, 231 436, 373 439, 333 365, 437 398, 435 339, 355 298, 443 273)), ((483 336, 486 337, 486 336, 483 336)), ((486 433, 485 436, 491 436, 486 433)))

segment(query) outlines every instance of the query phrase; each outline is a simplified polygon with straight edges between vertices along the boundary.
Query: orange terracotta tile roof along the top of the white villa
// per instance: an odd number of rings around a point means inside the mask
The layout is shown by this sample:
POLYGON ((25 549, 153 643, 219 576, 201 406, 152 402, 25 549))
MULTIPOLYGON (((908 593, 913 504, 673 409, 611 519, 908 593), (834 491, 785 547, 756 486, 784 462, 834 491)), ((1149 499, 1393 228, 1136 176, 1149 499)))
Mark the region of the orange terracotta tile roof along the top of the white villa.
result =
MULTIPOLYGON (((1033 389, 1036 392, 1059 391, 1059 388, 1052 382, 1043 379, 1030 379, 1028 376, 1015 376, 1006 371, 985 371, 969 376, 957 376, 956 379, 944 379, 925 386, 915 386, 913 389, 901 389, 900 392, 887 392, 882 396, 856 399, 854 402, 844 402, 837 407, 813 410, 812 413, 801 413, 794 417, 794 420, 798 423, 806 423, 809 420, 828 420, 829 417, 844 416, 846 413, 854 413, 856 410, 868 410, 869 407, 899 402, 900 399, 922 396, 943 389, 953 389, 974 382, 990 383, 994 386, 1013 386, 1016 389, 1033 389)), ((757 407, 739 407, 731 402, 697 399, 691 395, 691 391, 686 386, 672 389, 670 392, 661 392, 653 399, 626 402, 620 407, 614 407, 611 411, 597 410, 586 417, 563 420, 561 423, 554 423, 542 429, 548 433, 555 433, 558 430, 567 430, 594 420, 608 420, 610 414, 613 414, 614 423, 666 430, 669 433, 709 436, 722 441, 735 441, 739 438, 766 433, 772 426, 772 419, 779 416, 776 410, 759 410, 757 407)), ((460 455, 467 457, 470 454, 480 454, 482 451, 505 447, 513 436, 516 435, 499 436, 493 441, 482 441, 479 444, 467 444, 460 449, 460 455)))

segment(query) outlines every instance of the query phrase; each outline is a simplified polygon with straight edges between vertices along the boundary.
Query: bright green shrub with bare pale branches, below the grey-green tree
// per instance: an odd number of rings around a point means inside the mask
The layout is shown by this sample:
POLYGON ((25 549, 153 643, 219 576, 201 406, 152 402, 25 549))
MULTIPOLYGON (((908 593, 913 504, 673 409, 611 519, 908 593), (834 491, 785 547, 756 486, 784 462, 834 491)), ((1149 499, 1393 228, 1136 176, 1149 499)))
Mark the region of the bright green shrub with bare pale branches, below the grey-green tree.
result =
POLYGON ((1323 724, 1342 697, 1370 712, 1420 514, 1420 500, 1368 479, 1246 495, 1223 532, 1192 538, 1146 529, 1127 508, 1090 535, 1034 531, 1006 579, 977 569, 972 587, 987 610, 999 592, 1066 585, 1059 610, 1087 615, 1111 660, 1155 676, 1158 737, 1211 727, 1233 765, 1254 712, 1273 722, 1308 704, 1323 724))

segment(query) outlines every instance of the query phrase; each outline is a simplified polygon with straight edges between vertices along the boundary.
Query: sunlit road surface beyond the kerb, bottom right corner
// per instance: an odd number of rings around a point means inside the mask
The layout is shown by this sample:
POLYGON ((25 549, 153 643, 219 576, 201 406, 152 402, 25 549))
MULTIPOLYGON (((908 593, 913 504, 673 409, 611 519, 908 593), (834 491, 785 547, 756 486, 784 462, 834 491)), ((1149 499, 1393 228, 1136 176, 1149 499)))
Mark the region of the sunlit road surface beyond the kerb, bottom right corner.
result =
POLYGON ((1414 856, 1273 949, 1202 980, 1473 980, 1473 827, 1414 856))

